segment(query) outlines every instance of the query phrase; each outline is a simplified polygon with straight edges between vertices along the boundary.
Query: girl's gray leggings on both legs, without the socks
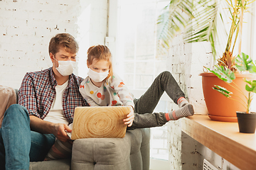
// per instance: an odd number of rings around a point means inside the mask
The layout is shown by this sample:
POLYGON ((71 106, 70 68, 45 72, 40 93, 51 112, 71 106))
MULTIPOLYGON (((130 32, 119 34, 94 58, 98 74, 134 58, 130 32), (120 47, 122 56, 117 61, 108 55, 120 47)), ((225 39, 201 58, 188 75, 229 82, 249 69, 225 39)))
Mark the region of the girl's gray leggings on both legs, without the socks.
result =
POLYGON ((153 113, 164 91, 174 103, 177 103, 178 98, 185 97, 171 73, 161 72, 145 94, 134 99, 134 121, 127 129, 151 128, 167 123, 165 113, 153 113))

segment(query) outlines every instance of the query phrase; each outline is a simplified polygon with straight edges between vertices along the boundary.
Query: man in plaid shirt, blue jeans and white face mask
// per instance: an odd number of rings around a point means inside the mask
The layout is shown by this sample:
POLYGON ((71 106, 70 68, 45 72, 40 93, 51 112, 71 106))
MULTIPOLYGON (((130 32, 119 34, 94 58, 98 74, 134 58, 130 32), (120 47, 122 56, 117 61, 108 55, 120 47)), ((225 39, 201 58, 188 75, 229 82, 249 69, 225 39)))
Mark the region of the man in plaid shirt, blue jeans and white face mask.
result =
POLYGON ((57 34, 49 43, 53 67, 23 78, 19 105, 6 110, 0 129, 0 169, 28 169, 29 162, 43 161, 55 137, 70 140, 75 107, 89 106, 79 92, 83 79, 73 74, 77 52, 72 35, 57 34))

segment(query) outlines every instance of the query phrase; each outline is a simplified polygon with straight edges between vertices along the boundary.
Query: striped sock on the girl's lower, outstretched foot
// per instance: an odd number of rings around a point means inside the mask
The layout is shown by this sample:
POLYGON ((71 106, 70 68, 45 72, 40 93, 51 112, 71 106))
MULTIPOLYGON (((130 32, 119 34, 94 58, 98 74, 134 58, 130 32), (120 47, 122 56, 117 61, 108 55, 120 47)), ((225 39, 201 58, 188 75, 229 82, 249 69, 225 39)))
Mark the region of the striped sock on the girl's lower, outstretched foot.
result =
POLYGON ((182 108, 179 108, 176 111, 171 111, 170 113, 166 113, 166 120, 178 120, 179 118, 183 118, 186 116, 193 115, 193 106, 191 104, 185 104, 182 108))

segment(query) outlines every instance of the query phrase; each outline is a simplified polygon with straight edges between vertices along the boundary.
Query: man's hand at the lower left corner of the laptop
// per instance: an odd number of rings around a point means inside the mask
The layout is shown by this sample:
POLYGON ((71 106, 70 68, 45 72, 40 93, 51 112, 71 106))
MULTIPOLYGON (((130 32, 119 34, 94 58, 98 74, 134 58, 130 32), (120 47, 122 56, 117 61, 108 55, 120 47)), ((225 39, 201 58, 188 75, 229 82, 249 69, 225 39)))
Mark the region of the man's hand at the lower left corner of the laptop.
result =
POLYGON ((58 140, 62 142, 67 142, 70 140, 70 137, 67 135, 67 132, 72 132, 72 130, 63 123, 55 123, 53 129, 53 135, 58 138, 58 140))

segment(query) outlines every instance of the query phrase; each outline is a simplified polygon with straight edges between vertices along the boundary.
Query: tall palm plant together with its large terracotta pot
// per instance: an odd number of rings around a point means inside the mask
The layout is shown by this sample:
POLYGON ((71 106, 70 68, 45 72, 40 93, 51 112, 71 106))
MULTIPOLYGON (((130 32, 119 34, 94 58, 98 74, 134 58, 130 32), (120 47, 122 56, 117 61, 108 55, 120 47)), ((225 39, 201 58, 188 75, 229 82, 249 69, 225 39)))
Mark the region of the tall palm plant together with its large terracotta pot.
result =
MULTIPOLYGON (((226 0, 228 3, 228 11, 230 13, 230 30, 228 32, 228 40, 225 46, 223 55, 217 61, 218 66, 223 66, 224 69, 230 69, 232 72, 235 72, 235 84, 239 86, 245 86, 243 81, 244 77, 250 78, 250 74, 240 74, 236 72, 235 67, 235 55, 234 49, 236 42, 239 42, 239 50, 241 46, 241 35, 242 35, 242 18, 243 13, 248 11, 248 4, 252 3, 255 0, 226 0), (239 39, 239 40, 238 40, 239 39), (238 82, 236 82, 238 81, 238 82)), ((216 28, 216 18, 221 16, 221 13, 218 13, 218 3, 217 1, 176 1, 172 0, 169 5, 169 18, 164 20, 164 14, 159 18, 159 22, 164 21, 166 26, 164 27, 162 34, 160 34, 161 43, 163 47, 169 47, 168 40, 176 31, 187 28, 184 33, 185 42, 201 42, 209 41, 212 47, 213 57, 215 60, 215 38, 218 36, 216 28), (186 4, 186 5, 184 5, 186 4), (195 11, 195 10, 199 11, 195 11), (186 16, 181 16, 178 11, 185 11, 186 16), (193 14, 196 13, 196 14, 193 14), (186 18, 189 18, 187 21, 186 18), (193 18, 191 20, 191 18, 193 18), (167 24, 168 23, 168 24, 167 24), (196 24, 194 24, 196 23, 196 24), (167 29, 168 28, 168 29, 167 29)), ((218 30, 218 33, 220 30, 218 30)), ((237 122, 238 119, 234 111, 238 111, 242 108, 240 103, 236 103, 232 100, 227 100, 227 98, 221 96, 216 91, 213 91, 211 88, 214 84, 222 84, 218 77, 215 74, 210 72, 203 72, 200 74, 202 76, 203 84, 203 94, 206 101, 206 106, 208 108, 209 117, 212 120, 228 121, 228 122, 237 122), (212 82, 213 81, 213 82, 212 82), (220 81, 220 82, 215 82, 220 81), (210 93, 210 94, 209 94, 210 93), (218 107, 216 107, 218 106, 218 107), (225 111, 225 108, 228 110, 225 111), (230 109, 231 108, 231 109, 230 109)), ((225 86, 225 84, 223 84, 225 86)), ((247 91, 242 90, 243 93, 247 91)), ((244 94, 241 94, 239 91, 234 89, 233 93, 241 98, 244 94), (239 96, 242 95, 242 96, 239 96)))

